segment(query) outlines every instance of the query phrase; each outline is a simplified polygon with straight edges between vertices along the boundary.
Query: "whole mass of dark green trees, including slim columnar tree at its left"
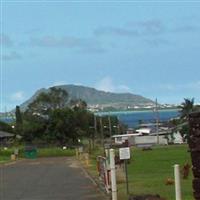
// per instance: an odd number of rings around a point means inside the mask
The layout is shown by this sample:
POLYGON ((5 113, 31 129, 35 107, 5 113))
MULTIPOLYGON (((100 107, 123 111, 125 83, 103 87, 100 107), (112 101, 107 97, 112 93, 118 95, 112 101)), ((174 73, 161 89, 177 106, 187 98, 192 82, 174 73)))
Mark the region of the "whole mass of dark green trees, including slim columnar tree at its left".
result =
MULTIPOLYGON (((81 99, 70 99, 66 90, 50 88, 40 93, 28 108, 20 111, 16 106, 15 133, 22 136, 24 142, 43 142, 48 144, 77 144, 87 138, 94 143, 95 138, 109 134, 109 123, 118 124, 116 117, 95 116, 87 110, 87 104, 81 99), (102 120, 102 123, 101 120, 102 120)), ((112 133, 117 130, 113 129, 112 133)))

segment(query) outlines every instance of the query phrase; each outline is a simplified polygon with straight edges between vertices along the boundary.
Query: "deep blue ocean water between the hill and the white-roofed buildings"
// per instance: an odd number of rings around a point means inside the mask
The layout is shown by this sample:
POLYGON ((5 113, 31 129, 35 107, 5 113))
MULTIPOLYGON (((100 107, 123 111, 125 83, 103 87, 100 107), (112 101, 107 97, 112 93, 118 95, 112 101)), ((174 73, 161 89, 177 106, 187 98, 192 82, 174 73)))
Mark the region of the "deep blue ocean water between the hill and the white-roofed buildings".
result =
MULTIPOLYGON (((156 121, 156 113, 154 111, 129 111, 129 112, 109 112, 101 113, 100 115, 113 115, 117 116, 119 121, 128 127, 136 127, 139 122, 153 123, 156 121)), ((159 110, 158 116, 160 122, 168 121, 172 118, 179 117, 178 110, 159 110)))

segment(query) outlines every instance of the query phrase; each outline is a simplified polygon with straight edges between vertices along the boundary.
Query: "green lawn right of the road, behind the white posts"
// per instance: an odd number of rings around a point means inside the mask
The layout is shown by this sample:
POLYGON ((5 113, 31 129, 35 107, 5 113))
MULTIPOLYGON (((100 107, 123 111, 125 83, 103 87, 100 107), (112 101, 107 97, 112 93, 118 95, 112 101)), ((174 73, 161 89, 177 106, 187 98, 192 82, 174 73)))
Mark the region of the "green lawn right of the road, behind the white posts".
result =
MULTIPOLYGON (((91 172, 95 174, 96 152, 92 155, 91 172)), ((174 178, 174 164, 183 166, 191 163, 187 145, 155 147, 151 151, 133 148, 128 165, 129 190, 131 194, 159 194, 167 200, 175 199, 174 185, 165 185, 167 178, 174 178)), ((188 179, 181 180, 182 196, 185 200, 193 200, 192 173, 188 179)), ((119 183, 118 198, 127 200, 126 185, 119 183)))

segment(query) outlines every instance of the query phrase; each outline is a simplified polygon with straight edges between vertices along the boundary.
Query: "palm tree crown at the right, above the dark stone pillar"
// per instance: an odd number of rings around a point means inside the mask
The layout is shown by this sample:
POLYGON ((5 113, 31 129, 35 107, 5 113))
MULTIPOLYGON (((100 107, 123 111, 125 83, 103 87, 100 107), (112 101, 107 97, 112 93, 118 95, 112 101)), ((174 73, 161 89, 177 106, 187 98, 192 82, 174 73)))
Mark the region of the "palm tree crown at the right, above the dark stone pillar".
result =
POLYGON ((179 108, 181 108, 181 111, 180 111, 181 118, 188 119, 189 114, 195 110, 194 98, 192 98, 192 99, 184 98, 184 102, 181 103, 179 108))

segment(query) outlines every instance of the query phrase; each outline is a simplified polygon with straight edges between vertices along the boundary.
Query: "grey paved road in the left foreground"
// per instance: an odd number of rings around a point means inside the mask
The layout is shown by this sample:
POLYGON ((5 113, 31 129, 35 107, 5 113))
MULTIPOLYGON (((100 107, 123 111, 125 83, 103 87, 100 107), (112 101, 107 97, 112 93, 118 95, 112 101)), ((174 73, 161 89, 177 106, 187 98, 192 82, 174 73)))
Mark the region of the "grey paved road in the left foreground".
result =
POLYGON ((45 158, 0 166, 0 200, 104 200, 70 158, 45 158))

